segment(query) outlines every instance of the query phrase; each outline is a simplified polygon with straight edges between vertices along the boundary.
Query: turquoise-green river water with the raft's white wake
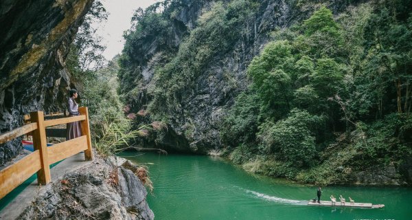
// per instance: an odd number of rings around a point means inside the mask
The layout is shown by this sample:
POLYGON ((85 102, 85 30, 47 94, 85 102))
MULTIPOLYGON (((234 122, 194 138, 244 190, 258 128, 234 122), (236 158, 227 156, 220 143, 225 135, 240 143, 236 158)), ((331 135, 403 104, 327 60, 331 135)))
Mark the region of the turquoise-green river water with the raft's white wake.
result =
POLYGON ((343 195, 385 208, 314 207, 306 204, 316 197, 316 186, 252 175, 219 157, 119 156, 150 168, 155 190, 148 203, 155 219, 412 219, 412 188, 328 186, 321 200, 343 195))

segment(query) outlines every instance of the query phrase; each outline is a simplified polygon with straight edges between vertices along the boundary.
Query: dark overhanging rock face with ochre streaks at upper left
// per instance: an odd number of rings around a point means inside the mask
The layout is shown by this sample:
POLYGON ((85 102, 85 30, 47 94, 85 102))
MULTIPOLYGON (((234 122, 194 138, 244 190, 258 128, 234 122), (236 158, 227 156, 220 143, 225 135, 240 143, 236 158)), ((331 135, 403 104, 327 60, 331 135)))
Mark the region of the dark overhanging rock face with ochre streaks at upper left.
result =
MULTIPOLYGON (((69 45, 93 0, 0 1, 0 133, 30 111, 65 109, 69 45)), ((0 145, 0 165, 22 150, 0 145)))

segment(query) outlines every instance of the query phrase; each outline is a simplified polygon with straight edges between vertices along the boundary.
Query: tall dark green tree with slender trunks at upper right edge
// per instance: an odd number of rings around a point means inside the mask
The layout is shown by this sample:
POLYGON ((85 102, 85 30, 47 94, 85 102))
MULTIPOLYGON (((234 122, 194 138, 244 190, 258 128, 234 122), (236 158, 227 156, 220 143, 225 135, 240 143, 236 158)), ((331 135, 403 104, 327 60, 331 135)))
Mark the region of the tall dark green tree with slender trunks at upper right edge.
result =
POLYGON ((369 63, 365 73, 372 78, 372 82, 378 80, 380 84, 393 88, 398 113, 409 114, 412 98, 412 17, 399 21, 392 13, 387 8, 379 10, 370 17, 365 27, 366 61, 369 63))

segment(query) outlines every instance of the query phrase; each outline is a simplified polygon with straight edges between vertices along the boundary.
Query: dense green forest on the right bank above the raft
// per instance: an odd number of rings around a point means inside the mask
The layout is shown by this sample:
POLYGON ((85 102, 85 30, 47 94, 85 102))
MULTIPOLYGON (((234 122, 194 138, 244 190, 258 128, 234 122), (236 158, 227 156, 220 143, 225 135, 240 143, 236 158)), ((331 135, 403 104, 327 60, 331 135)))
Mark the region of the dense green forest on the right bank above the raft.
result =
POLYGON ((411 155, 411 17, 402 5, 321 7, 273 32, 220 130, 234 162, 330 184, 411 155))

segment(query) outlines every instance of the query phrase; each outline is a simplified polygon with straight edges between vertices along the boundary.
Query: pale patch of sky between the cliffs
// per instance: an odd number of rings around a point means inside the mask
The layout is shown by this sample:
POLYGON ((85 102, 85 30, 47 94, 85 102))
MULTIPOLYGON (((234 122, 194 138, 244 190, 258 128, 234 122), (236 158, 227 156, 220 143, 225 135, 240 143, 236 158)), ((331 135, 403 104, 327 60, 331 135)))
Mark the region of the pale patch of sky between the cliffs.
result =
POLYGON ((102 0, 104 8, 109 13, 106 23, 94 24, 98 27, 98 35, 103 37, 107 46, 103 53, 104 58, 110 61, 123 50, 123 32, 131 26, 133 12, 137 8, 147 8, 158 0, 102 0))

